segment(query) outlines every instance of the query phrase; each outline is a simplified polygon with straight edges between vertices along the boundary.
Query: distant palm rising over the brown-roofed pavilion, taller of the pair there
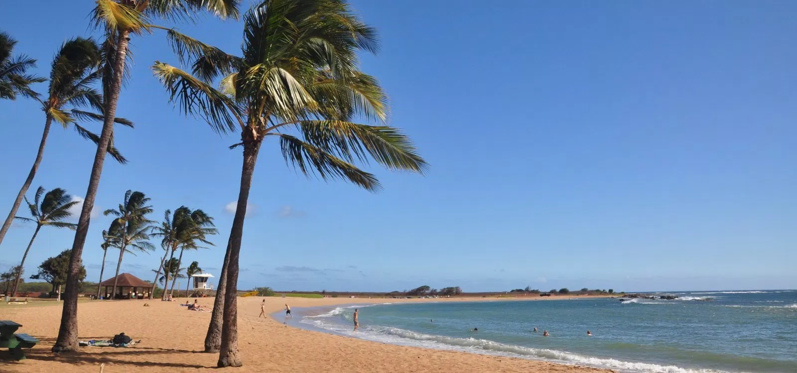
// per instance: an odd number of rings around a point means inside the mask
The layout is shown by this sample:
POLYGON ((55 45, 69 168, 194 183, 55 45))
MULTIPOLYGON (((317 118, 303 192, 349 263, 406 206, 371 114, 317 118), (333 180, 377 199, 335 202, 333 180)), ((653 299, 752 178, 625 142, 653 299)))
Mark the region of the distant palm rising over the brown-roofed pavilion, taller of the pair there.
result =
POLYGON ((128 190, 124 193, 124 202, 119 205, 118 209, 108 209, 104 212, 106 216, 116 216, 116 222, 120 224, 121 232, 120 242, 117 246, 119 248, 119 261, 116 262, 117 278, 113 282, 112 297, 116 297, 116 284, 119 282, 119 270, 124 253, 155 250, 155 247, 148 242, 149 231, 152 229, 150 223, 153 223, 152 220, 147 220, 147 214, 152 212, 152 206, 147 206, 149 201, 150 199, 143 192, 128 190))

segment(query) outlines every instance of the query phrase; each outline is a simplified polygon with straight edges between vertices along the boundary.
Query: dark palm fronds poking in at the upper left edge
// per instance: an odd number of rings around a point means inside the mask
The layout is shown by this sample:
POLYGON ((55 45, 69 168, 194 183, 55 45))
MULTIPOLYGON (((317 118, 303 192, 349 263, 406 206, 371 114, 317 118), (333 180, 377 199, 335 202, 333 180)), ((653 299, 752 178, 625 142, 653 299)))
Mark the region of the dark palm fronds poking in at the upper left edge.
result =
POLYGON ((13 37, 0 32, 0 99, 17 99, 17 95, 35 98, 38 94, 29 85, 45 78, 26 74, 29 68, 36 67, 36 60, 24 54, 13 56, 15 45, 13 37))

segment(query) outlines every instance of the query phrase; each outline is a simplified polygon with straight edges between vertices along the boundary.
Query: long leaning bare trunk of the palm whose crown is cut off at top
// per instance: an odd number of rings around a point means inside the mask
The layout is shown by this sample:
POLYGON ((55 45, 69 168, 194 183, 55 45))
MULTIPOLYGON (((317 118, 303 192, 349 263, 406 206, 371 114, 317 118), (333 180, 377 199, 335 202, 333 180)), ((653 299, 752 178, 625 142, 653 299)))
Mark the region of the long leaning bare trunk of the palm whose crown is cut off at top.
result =
POLYGON ((124 76, 124 61, 128 53, 128 42, 130 41, 130 31, 123 30, 119 33, 119 42, 116 45, 116 60, 114 60, 113 80, 105 97, 105 112, 100 133, 100 143, 97 144, 97 151, 94 154, 94 164, 92 174, 88 178, 88 189, 86 198, 83 200, 83 209, 80 211, 80 220, 77 221, 77 232, 72 243, 72 255, 69 257, 69 274, 66 278, 66 301, 61 311, 61 327, 58 328, 58 339, 53 344, 53 352, 77 352, 80 346, 77 344, 77 287, 80 276, 80 263, 83 256, 83 245, 86 243, 88 234, 88 223, 91 220, 94 199, 96 198, 97 188, 100 187, 100 176, 102 166, 105 161, 105 153, 108 152, 108 145, 113 137, 113 119, 116 118, 116 103, 119 102, 119 93, 122 90, 122 78, 124 76))

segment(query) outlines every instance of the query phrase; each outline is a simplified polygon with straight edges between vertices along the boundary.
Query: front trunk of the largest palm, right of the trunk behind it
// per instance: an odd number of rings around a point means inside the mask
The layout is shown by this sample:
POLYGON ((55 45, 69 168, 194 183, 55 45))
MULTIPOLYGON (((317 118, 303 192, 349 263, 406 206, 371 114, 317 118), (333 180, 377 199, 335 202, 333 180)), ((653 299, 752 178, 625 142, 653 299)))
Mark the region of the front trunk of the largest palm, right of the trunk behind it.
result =
POLYGON ((222 323, 222 349, 218 355, 217 367, 241 367, 241 356, 238 356, 238 256, 241 253, 241 238, 244 234, 244 218, 246 204, 249 200, 249 189, 252 188, 252 175, 257 162, 257 153, 261 142, 249 140, 244 142, 244 163, 241 167, 241 190, 238 192, 238 207, 235 210, 233 227, 230 230, 230 263, 227 266, 227 283, 224 294, 224 317, 222 323))

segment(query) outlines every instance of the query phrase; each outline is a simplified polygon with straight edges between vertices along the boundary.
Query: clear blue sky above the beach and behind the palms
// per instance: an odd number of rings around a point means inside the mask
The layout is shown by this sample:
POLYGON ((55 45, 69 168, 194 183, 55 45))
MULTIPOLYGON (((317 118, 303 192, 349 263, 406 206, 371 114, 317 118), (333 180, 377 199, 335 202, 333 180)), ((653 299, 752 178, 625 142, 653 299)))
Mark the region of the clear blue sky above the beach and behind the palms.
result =
MULTIPOLYGON (((261 151, 241 248, 239 288, 391 291, 428 284, 516 287, 795 289, 797 25, 790 2, 354 2, 383 50, 363 59, 391 95, 391 124, 430 162, 424 176, 388 173, 376 194, 308 180, 276 143, 261 151)), ((92 35, 91 2, 3 5, 17 52, 49 60, 92 35)), ((238 52, 241 24, 179 25, 238 52)), ((106 161, 96 209, 128 189, 151 196, 152 219, 181 205, 214 216, 211 250, 184 260, 218 275, 237 199, 241 152, 179 115, 148 68, 177 64, 163 34, 135 37, 132 83, 116 130, 128 165, 106 161)), ((45 84, 38 86, 45 89, 45 84)), ((0 211, 35 156, 44 115, 0 102, 0 211)), ((99 131, 99 126, 92 125, 99 131)), ((53 127, 33 182, 84 196, 92 146, 53 127)), ((32 193, 32 192, 30 192, 32 193)), ((24 213, 25 210, 21 210, 24 213)), ((96 216, 84 249, 99 277, 96 216)), ((0 266, 22 257, 33 226, 15 224, 0 266)), ((71 247, 44 229, 26 271, 71 247)), ((159 254, 122 265, 151 280, 159 254)), ((108 272, 116 266, 109 252, 108 272)))

